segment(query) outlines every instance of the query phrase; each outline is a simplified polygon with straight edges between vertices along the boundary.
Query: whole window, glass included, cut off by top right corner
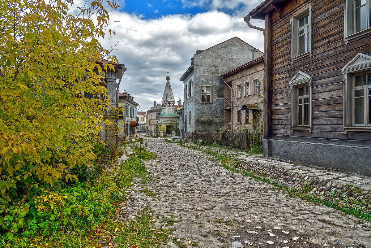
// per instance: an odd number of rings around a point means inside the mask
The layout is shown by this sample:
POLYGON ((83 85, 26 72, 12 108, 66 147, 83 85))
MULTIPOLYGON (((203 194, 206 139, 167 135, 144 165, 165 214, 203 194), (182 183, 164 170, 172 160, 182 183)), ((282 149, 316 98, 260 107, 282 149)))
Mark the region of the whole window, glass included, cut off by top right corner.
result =
POLYGON ((371 32, 371 0, 345 0, 344 40, 371 32))

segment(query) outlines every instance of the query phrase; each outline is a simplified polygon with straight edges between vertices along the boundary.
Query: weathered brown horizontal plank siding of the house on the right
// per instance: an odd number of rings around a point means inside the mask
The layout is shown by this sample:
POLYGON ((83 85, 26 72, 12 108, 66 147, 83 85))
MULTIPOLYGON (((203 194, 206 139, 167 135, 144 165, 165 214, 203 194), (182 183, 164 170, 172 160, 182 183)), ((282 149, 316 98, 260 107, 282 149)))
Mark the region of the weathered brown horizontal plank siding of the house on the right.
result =
MULTIPOLYGON (((289 0, 272 12, 271 134, 272 138, 313 137, 371 140, 371 132, 344 134, 344 82, 340 69, 357 53, 371 54, 371 36, 344 42, 344 0, 289 0), (313 4, 312 57, 290 62, 290 18, 308 3, 313 4), (302 71, 313 76, 312 132, 290 130, 288 82, 302 71)), ((300 138, 299 138, 300 139, 300 138)))

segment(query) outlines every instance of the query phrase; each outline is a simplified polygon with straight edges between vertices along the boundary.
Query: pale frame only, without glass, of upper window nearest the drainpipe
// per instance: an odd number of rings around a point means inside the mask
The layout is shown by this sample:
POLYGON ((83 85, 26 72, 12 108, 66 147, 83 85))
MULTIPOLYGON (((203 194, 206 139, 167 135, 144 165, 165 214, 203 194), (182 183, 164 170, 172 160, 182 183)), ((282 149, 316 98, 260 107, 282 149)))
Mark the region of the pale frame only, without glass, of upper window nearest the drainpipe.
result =
MULTIPOLYGON (((290 62, 291 63, 293 63, 297 59, 301 59, 301 58, 304 58, 306 56, 309 56, 309 57, 312 56, 313 7, 312 7, 312 5, 308 5, 308 6, 305 6, 305 7, 301 8, 301 9, 305 9, 305 10, 301 11, 301 12, 296 12, 290 19, 290 26, 291 26, 291 45, 290 45, 291 59, 290 59, 290 62), (308 50, 305 53, 299 55, 299 52, 298 52, 299 19, 305 14, 309 14, 309 23, 308 23, 308 25, 309 25, 309 36, 307 37, 307 39, 309 39, 309 47, 308 47, 308 50)), ((306 32, 304 32, 304 33, 306 33, 306 32)), ((305 41, 305 44, 308 44, 307 40, 305 41)))

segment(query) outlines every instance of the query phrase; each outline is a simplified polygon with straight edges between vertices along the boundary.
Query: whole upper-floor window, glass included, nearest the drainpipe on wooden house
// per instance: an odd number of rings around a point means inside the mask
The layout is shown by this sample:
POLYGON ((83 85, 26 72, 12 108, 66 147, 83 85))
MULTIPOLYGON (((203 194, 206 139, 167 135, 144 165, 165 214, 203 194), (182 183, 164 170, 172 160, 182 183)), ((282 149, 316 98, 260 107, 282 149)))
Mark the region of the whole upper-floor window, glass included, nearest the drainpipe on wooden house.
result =
POLYGON ((312 6, 296 14, 291 24, 291 63, 312 53, 312 6))

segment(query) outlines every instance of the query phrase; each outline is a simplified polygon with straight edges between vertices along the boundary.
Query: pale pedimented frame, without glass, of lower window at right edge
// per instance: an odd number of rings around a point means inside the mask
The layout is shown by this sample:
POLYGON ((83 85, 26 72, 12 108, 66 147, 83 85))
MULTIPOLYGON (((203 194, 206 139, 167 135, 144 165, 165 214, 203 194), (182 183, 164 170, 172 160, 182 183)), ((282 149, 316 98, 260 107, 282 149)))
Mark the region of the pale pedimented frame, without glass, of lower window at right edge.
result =
MULTIPOLYGON (((358 53, 352 58, 347 65, 341 70, 344 81, 344 133, 348 131, 371 131, 371 125, 365 124, 355 125, 354 123, 354 77, 359 74, 371 73, 371 56, 363 53, 358 53)), ((363 86, 364 87, 364 86, 363 86)), ((362 88, 362 87, 359 87, 362 88)), ((371 85, 366 85, 366 89, 371 88, 371 85)), ((365 92, 365 102, 367 102, 367 93, 365 92)), ((367 110, 365 109, 365 114, 367 110)))

